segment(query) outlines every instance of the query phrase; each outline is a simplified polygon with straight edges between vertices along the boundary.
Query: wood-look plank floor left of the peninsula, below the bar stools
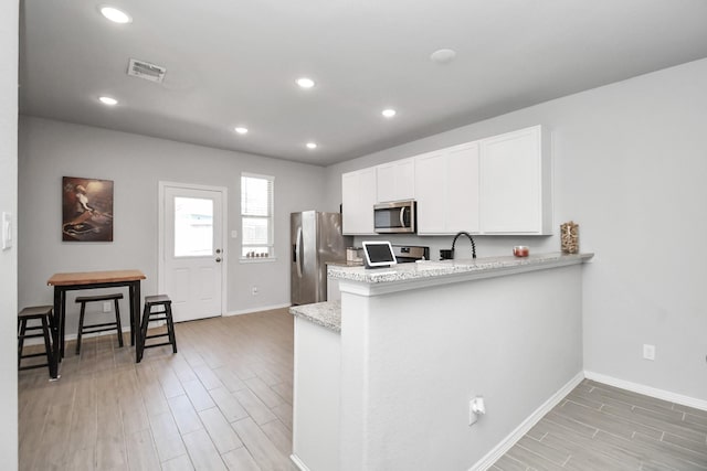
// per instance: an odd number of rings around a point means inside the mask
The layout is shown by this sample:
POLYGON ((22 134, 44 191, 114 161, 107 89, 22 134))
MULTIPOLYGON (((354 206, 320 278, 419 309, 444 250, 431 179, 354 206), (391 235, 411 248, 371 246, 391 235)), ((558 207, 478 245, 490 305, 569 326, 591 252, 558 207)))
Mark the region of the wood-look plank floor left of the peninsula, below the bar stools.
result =
POLYGON ((67 344, 57 382, 20 372, 20 470, 296 470, 287 309, 176 334, 178 354, 149 349, 139 364, 102 335, 80 356, 67 344))

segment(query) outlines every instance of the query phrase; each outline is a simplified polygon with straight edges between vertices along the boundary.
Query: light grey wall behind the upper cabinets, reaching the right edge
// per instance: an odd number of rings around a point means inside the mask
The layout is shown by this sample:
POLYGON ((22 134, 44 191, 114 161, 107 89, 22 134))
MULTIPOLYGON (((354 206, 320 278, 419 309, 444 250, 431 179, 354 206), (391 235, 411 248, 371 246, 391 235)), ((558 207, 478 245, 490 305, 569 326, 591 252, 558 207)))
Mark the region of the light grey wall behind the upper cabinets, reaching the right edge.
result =
MULTIPOLYGON (((584 368, 707 399, 707 60, 473 124, 327 169, 327 202, 341 172, 532 125, 552 132, 555 226, 580 224, 585 267, 584 368), (654 362, 642 358, 656 345, 654 362)), ((334 208, 329 207, 329 210, 334 208)), ((346 211, 346 208, 344 208, 346 211)), ((389 237, 449 247, 451 237, 389 237)), ((551 237, 476 238, 479 256, 551 237)))

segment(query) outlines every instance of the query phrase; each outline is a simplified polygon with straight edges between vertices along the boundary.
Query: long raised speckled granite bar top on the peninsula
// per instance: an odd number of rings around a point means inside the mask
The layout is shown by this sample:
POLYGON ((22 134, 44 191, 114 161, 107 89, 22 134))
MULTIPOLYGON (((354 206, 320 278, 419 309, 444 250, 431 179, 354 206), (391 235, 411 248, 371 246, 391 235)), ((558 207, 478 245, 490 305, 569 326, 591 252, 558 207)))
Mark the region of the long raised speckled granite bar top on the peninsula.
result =
POLYGON ((424 280, 430 278, 450 277, 457 275, 502 275, 509 270, 528 271, 532 269, 551 268, 553 266, 582 264, 594 254, 567 255, 562 253, 530 255, 528 257, 486 257, 460 260, 425 260, 415 264, 399 264, 391 268, 367 269, 365 267, 338 267, 329 265, 327 276, 333 279, 358 281, 369 285, 401 281, 424 280))

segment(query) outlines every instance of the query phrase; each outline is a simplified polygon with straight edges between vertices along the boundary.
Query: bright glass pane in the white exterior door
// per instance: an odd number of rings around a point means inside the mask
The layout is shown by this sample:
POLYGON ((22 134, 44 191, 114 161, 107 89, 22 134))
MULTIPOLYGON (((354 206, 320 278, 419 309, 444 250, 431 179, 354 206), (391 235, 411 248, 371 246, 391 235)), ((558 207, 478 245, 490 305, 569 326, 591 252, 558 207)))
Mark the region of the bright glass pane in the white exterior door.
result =
POLYGON ((213 255, 213 201, 175 197, 175 257, 213 255))

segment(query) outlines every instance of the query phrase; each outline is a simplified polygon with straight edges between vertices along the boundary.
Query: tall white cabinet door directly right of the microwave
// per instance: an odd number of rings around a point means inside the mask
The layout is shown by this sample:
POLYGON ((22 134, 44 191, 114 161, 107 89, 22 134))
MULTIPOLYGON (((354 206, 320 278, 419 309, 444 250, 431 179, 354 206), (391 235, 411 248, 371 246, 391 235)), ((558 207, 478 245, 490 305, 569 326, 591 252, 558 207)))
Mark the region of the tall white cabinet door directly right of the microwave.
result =
POLYGON ((432 152, 418 156, 415 164, 415 200, 418 234, 445 234, 446 156, 432 152))

